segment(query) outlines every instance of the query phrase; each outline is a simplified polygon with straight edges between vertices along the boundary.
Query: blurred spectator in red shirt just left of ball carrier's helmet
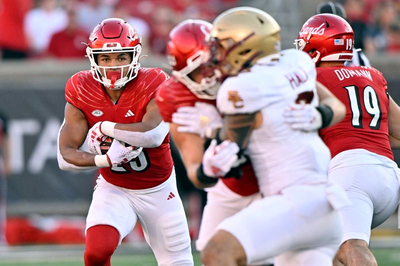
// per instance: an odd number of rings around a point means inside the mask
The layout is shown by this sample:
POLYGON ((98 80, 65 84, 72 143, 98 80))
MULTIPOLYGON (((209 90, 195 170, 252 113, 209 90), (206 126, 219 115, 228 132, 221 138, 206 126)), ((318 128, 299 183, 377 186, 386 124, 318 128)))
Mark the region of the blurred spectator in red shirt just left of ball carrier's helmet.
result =
POLYGON ((68 24, 61 31, 51 36, 48 55, 57 58, 81 58, 86 54, 87 33, 76 21, 75 10, 68 10, 68 24))

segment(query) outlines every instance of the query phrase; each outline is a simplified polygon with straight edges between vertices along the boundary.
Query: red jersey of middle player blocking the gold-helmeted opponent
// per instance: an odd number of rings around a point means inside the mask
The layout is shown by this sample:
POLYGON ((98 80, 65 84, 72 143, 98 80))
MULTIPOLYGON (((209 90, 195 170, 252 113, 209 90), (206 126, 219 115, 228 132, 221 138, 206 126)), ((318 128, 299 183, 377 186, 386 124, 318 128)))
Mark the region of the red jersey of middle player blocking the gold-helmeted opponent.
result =
MULTIPOLYGON (((215 100, 198 98, 174 77, 169 78, 159 87, 155 100, 165 122, 171 122, 172 114, 176 112, 178 107, 194 106, 194 103, 198 101, 216 105, 215 100)), ((258 192, 257 179, 251 167, 251 162, 247 161, 242 165, 242 170, 243 176, 240 179, 222 178, 222 182, 231 191, 241 196, 249 196, 258 192)))

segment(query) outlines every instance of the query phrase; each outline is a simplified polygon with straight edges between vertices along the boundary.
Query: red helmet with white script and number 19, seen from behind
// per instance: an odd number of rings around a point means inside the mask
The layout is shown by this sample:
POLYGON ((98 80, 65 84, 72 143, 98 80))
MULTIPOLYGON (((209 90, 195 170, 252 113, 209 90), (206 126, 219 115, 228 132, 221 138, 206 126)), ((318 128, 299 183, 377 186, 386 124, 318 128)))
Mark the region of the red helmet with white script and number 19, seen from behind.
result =
POLYGON ((297 50, 307 52, 314 63, 351 60, 354 32, 346 20, 334 14, 311 16, 294 40, 297 50))

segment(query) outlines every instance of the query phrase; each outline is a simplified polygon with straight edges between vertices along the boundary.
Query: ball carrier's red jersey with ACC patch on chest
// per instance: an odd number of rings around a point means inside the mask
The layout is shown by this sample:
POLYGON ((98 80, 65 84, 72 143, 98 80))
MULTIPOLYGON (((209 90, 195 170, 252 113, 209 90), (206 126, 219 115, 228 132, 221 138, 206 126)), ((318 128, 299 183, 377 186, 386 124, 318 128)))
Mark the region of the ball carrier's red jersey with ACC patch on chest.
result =
MULTIPOLYGON (((103 85, 93 79, 90 70, 69 78, 65 86, 66 101, 80 109, 89 128, 99 121, 138 123, 146 113, 148 102, 158 86, 168 78, 159 68, 140 68, 137 76, 123 88, 117 104, 113 104, 103 85)), ((126 164, 100 168, 104 179, 127 189, 148 189, 167 180, 172 172, 169 136, 155 148, 143 148, 138 157, 126 164)))

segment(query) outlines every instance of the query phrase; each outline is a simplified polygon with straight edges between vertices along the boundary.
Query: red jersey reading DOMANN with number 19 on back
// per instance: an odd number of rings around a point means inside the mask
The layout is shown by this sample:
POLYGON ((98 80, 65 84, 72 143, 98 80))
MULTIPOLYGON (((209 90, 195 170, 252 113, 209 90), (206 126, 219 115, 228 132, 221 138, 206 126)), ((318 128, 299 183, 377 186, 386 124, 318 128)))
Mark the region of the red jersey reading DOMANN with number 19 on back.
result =
POLYGON ((319 134, 332 158, 346 150, 365 149, 393 160, 389 143, 387 83, 373 67, 317 67, 317 80, 346 106, 346 115, 319 134))

